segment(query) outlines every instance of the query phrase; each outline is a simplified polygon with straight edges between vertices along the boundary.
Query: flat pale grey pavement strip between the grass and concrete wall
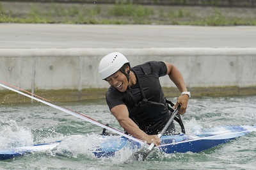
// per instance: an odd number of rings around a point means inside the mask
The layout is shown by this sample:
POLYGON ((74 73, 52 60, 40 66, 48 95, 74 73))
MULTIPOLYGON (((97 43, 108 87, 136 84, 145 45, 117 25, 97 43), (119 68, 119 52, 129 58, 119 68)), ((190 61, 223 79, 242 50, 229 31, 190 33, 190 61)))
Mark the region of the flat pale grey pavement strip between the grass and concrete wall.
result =
POLYGON ((151 47, 256 47, 256 27, 0 24, 0 49, 151 47))

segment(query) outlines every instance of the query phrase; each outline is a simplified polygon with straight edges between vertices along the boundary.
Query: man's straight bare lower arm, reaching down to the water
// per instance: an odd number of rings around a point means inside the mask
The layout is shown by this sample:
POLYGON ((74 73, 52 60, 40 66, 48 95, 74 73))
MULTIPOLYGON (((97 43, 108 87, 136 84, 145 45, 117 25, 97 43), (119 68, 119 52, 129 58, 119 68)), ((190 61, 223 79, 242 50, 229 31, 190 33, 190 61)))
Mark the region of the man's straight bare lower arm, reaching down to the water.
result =
POLYGON ((126 105, 116 105, 111 109, 111 113, 128 134, 142 141, 147 141, 148 144, 154 143, 156 146, 160 144, 160 139, 157 135, 147 135, 129 118, 129 111, 126 105))

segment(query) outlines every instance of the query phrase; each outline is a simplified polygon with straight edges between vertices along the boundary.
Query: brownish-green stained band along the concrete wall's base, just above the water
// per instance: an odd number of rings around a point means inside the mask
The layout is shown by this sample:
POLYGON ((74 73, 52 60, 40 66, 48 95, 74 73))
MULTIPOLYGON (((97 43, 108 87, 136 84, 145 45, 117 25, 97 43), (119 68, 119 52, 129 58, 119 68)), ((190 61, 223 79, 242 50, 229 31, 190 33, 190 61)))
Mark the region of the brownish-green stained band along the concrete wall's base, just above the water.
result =
MULTIPOLYGON (((104 100, 108 88, 100 89, 60 89, 45 90, 36 89, 34 95, 45 98, 51 102, 79 102, 84 100, 104 100)), ((166 98, 179 97, 180 92, 177 88, 163 88, 166 98)), ((255 87, 214 87, 214 88, 188 88, 192 98, 201 97, 236 97, 255 95, 255 87)), ((0 90, 1 104, 18 104, 32 102, 31 98, 20 95, 8 89, 0 90)), ((36 101, 35 101, 36 102, 36 101)))

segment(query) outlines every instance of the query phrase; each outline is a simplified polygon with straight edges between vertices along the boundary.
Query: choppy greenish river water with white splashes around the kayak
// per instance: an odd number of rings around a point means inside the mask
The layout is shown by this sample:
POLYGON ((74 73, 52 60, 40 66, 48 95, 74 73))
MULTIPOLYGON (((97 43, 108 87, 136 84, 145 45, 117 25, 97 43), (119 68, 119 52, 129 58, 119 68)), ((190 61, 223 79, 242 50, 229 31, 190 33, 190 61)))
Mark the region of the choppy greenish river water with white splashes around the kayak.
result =
MULTIPOLYGON (((175 98, 169 98, 175 102, 175 98)), ((104 100, 55 103, 122 130, 104 100)), ((0 149, 62 140, 54 150, 0 161, 0 169, 255 169, 256 132, 201 153, 153 151, 144 162, 131 151, 95 158, 90 148, 102 128, 48 105, 0 104, 0 149), (64 153, 63 150, 66 152, 64 153)), ((256 125, 256 96, 203 97, 189 100, 182 116, 187 134, 221 125, 256 125)))

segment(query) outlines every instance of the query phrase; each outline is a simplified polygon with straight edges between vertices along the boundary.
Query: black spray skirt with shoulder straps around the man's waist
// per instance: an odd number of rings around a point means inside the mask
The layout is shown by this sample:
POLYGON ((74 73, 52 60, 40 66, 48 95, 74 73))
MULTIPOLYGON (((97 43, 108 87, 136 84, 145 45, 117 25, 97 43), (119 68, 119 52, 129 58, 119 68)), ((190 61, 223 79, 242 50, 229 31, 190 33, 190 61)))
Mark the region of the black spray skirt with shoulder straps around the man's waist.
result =
MULTIPOLYGON (((146 134, 158 134, 161 132, 161 130, 164 128, 164 125, 166 125, 172 116, 172 106, 174 104, 172 104, 172 102, 169 100, 166 100, 166 105, 159 102, 148 101, 145 97, 145 93, 141 86, 138 75, 134 70, 132 70, 132 72, 134 72, 136 75, 138 86, 140 88, 143 99, 137 104, 133 95, 129 93, 135 103, 134 107, 129 109, 129 118, 131 118, 146 134)), ((177 117, 175 117, 175 120, 179 123, 182 129, 182 133, 185 133, 184 125, 179 114, 177 117)), ((166 133, 173 134, 173 131, 175 131, 174 123, 170 125, 170 127, 166 130, 166 133)))

